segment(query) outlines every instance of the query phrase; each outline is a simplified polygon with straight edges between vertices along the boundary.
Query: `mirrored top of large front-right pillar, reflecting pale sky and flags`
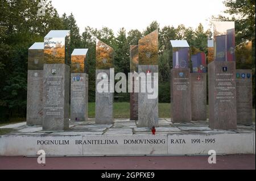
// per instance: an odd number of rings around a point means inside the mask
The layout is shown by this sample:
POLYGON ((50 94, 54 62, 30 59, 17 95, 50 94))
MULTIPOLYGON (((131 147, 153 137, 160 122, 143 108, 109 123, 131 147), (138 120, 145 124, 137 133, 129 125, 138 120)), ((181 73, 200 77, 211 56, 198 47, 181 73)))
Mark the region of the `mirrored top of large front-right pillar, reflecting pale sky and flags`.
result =
POLYGON ((234 22, 213 22, 214 61, 235 61, 234 22))

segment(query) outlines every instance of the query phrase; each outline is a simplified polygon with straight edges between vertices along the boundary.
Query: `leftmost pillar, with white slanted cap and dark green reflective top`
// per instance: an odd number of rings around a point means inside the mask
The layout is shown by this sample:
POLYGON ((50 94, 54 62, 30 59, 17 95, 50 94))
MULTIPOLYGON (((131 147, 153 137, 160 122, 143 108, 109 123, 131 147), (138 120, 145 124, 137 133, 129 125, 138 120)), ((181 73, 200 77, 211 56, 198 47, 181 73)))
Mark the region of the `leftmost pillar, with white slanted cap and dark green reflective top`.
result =
POLYGON ((43 64, 44 43, 34 43, 28 49, 27 125, 42 125, 43 64))

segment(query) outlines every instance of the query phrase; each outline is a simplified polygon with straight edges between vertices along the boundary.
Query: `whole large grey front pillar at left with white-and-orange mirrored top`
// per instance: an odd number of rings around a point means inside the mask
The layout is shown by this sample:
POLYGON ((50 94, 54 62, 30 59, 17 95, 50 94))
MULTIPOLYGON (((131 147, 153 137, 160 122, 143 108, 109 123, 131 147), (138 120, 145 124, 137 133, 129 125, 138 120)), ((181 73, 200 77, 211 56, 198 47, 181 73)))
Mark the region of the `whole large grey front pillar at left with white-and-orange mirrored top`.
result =
POLYGON ((53 30, 44 37, 43 131, 69 128, 69 46, 69 30, 53 30))

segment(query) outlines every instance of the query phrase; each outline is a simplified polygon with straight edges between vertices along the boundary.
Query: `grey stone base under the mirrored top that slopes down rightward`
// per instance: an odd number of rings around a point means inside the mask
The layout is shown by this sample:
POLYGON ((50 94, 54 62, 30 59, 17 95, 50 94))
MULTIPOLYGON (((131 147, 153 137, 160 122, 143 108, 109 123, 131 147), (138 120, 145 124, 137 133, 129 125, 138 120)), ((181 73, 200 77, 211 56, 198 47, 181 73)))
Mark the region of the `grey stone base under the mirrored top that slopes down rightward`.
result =
POLYGON ((97 80, 99 73, 105 73, 102 79, 107 79, 108 85, 110 85, 110 70, 96 70, 96 110, 95 110, 95 122, 100 124, 114 123, 113 117, 113 92, 110 92, 110 86, 108 86, 107 92, 98 92, 97 85, 101 80, 97 80))

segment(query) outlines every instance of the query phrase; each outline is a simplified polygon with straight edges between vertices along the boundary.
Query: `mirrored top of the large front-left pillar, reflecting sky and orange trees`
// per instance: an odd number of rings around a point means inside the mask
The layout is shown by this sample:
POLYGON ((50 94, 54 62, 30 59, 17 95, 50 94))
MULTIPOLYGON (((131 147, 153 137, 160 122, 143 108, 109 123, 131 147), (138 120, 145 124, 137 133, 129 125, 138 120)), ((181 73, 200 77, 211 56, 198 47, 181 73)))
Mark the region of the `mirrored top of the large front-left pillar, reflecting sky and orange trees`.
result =
POLYGON ((52 30, 44 37, 46 64, 70 65, 70 31, 52 30))

